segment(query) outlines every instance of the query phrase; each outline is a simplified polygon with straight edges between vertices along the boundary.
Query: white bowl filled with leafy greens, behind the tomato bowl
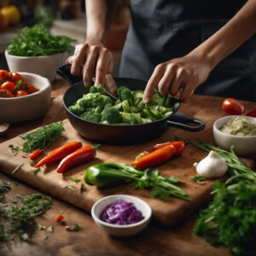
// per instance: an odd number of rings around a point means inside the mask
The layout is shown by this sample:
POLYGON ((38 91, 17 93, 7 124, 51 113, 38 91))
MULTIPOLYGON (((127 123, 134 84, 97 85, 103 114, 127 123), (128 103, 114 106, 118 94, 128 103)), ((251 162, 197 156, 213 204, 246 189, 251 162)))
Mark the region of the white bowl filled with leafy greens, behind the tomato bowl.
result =
POLYGON ((65 64, 67 52, 55 55, 23 57, 9 55, 5 50, 5 57, 10 71, 36 73, 53 81, 56 78, 56 69, 65 64))

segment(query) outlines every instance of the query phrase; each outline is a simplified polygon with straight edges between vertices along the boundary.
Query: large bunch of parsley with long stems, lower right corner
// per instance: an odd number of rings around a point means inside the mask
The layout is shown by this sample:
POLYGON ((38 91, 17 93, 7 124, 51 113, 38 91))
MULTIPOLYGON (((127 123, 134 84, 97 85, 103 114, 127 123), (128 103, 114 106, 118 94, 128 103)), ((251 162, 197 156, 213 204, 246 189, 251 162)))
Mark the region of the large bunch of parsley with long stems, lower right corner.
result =
POLYGON ((213 201, 200 212, 195 234, 212 245, 229 247, 235 255, 256 255, 256 172, 237 157, 234 146, 229 152, 200 138, 199 143, 183 141, 206 152, 214 150, 229 167, 229 179, 215 183, 213 201))

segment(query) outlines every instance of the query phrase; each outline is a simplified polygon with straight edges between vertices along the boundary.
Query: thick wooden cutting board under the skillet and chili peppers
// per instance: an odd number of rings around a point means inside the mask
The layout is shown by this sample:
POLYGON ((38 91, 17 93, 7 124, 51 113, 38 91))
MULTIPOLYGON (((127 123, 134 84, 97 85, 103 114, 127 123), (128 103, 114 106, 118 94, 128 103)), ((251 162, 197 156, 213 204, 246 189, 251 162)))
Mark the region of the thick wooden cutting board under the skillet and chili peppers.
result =
MULTIPOLYGON (((196 117, 201 118, 200 112, 196 117)), ((153 217, 159 221, 160 224, 173 225, 180 222, 183 218, 188 217, 192 212, 195 212, 198 207, 211 199, 210 192, 214 181, 208 180, 205 184, 199 184, 190 180, 190 177, 196 175, 193 164, 206 156, 206 153, 202 152, 200 149, 197 149, 192 145, 188 145, 187 148, 185 148, 183 155, 176 159, 173 158, 165 164, 158 166, 162 175, 174 175, 185 183, 180 187, 188 193, 192 201, 183 201, 174 197, 171 197, 167 201, 161 201, 160 199, 152 198, 149 195, 148 190, 133 189, 129 185, 121 185, 110 189, 97 189, 96 186, 84 183, 84 173, 88 166, 100 162, 131 164, 137 154, 144 150, 148 150, 155 143, 164 143, 166 141, 173 140, 174 135, 194 139, 195 137, 201 137, 206 139, 208 142, 213 143, 213 119, 206 118, 206 121, 207 129, 197 133, 190 133, 188 131, 170 128, 163 136, 148 143, 131 146, 102 145, 102 147, 97 151, 95 160, 91 160, 84 165, 74 167, 65 173, 65 176, 80 178, 82 181, 78 184, 74 183, 70 179, 63 179, 62 175, 55 171, 57 164, 49 166, 49 168, 38 172, 37 175, 34 175, 32 173, 32 170, 34 169, 29 165, 30 160, 27 158, 28 155, 22 152, 18 152, 18 154, 15 155, 12 153, 11 148, 9 148, 10 144, 21 148, 21 144, 24 141, 20 137, 15 137, 0 144, 0 171, 12 175, 11 173, 15 170, 15 167, 19 166, 20 163, 23 163, 24 165, 21 166, 21 168, 13 175, 15 178, 28 183, 32 185, 32 187, 38 188, 49 195, 56 196, 63 201, 67 201, 77 207, 80 207, 86 212, 90 212, 93 204, 103 196, 113 194, 135 195, 148 202, 149 206, 152 207, 153 217), (86 187, 86 191, 83 193, 80 192, 80 186, 82 183, 84 183, 86 187), (72 185, 75 189, 65 189, 67 185, 72 185)), ((67 119, 64 120, 64 126, 66 131, 62 133, 61 137, 59 137, 55 143, 52 143, 49 148, 47 148, 45 154, 67 142, 80 141, 83 144, 90 143, 79 136, 67 119)), ((93 143, 90 143, 90 145, 93 145, 93 143)), ((38 160, 42 159, 45 154, 38 157, 38 160)))

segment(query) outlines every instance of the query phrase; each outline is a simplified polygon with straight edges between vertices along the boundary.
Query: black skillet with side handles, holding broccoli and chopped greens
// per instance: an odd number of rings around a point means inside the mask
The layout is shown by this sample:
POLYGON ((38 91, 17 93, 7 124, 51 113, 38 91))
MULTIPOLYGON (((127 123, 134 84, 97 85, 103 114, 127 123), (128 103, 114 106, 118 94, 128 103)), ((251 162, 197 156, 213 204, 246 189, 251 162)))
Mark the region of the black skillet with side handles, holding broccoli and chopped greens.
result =
MULTIPOLYGON (((73 128, 83 137, 99 143, 108 144, 131 144, 142 143, 159 137, 170 126, 177 127, 186 131, 201 131, 205 128, 205 123, 200 119, 195 119, 189 115, 177 112, 180 102, 176 98, 172 98, 173 113, 165 119, 160 119, 148 124, 140 125, 102 125, 92 123, 90 121, 80 119, 68 110, 68 107, 79 100, 84 94, 88 93, 84 87, 82 78, 75 77, 70 73, 70 65, 65 65, 57 69, 57 73, 72 85, 63 96, 63 104, 66 109, 67 118, 73 128), (194 123, 195 125, 189 125, 194 123)), ((117 86, 125 85, 131 90, 144 90, 146 81, 138 79, 114 79, 117 86)))

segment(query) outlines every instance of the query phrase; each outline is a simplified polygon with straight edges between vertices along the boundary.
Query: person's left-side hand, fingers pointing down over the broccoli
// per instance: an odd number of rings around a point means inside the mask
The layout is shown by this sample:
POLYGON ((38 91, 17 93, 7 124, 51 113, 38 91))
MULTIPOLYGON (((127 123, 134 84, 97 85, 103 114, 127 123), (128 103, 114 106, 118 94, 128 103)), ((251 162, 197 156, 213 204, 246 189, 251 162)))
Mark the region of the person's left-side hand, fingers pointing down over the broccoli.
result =
POLYGON ((76 45, 74 55, 66 62, 72 65, 73 75, 83 76, 85 87, 90 88, 95 73, 94 84, 102 84, 111 94, 116 94, 117 86, 112 78, 113 55, 102 43, 76 45))

